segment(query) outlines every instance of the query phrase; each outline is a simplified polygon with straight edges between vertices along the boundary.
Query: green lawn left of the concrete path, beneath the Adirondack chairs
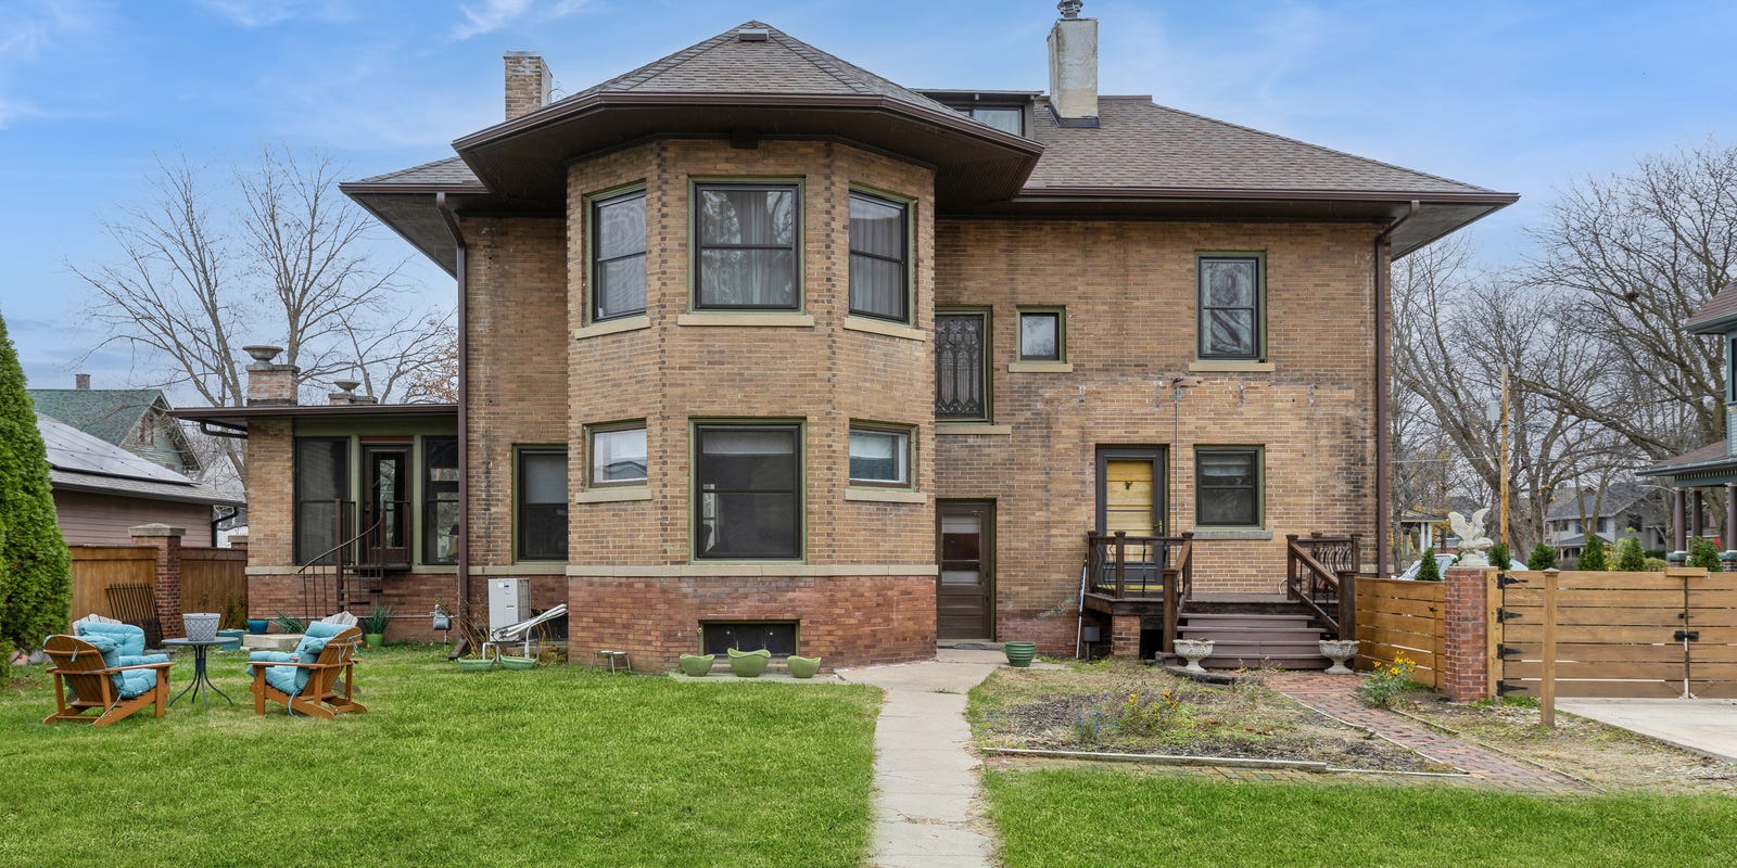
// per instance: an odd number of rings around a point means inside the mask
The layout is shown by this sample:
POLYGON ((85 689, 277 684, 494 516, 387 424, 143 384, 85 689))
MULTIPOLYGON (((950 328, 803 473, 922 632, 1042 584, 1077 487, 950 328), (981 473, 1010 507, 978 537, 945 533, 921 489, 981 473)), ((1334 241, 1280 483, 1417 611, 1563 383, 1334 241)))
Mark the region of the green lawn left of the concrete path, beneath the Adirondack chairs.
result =
MULTIPOLYGON (((43 726, 54 687, 0 693, 0 866, 856 866, 879 691, 677 684, 580 667, 460 674, 367 651, 332 722, 234 696, 163 719, 43 726)), ((191 661, 177 663, 179 691, 191 661)))

